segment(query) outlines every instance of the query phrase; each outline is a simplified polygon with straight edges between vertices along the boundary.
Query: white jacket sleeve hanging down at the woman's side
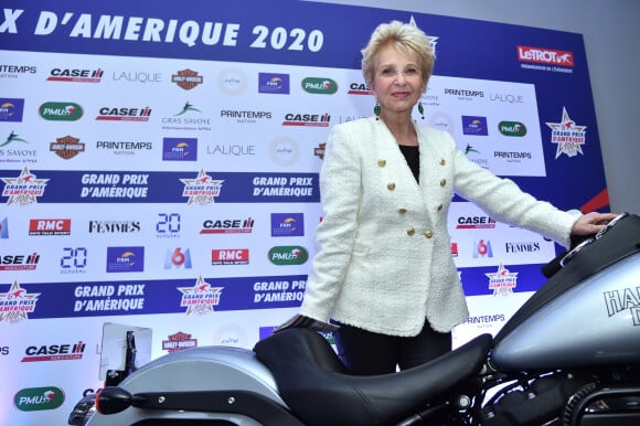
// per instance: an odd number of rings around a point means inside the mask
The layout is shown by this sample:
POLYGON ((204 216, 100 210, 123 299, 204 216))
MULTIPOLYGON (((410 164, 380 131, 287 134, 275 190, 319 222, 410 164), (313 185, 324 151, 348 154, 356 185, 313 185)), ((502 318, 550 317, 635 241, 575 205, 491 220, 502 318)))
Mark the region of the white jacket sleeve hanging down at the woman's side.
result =
POLYGON ((322 222, 316 230, 317 253, 307 279, 301 312, 327 321, 351 259, 361 204, 361 156, 346 129, 334 126, 320 170, 322 222))

